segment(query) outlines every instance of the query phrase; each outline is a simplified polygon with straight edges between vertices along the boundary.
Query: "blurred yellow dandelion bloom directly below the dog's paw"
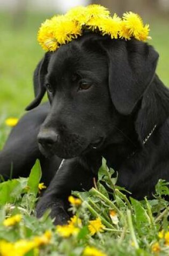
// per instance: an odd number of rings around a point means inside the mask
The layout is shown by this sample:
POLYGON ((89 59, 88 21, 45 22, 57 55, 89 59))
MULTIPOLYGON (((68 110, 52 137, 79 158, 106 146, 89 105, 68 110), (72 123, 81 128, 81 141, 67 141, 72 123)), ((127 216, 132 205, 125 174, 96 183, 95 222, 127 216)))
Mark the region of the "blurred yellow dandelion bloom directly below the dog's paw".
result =
POLYGON ((74 225, 63 225, 63 226, 56 226, 56 232, 61 236, 61 237, 70 237, 71 235, 76 235, 79 232, 78 227, 75 227, 74 225))

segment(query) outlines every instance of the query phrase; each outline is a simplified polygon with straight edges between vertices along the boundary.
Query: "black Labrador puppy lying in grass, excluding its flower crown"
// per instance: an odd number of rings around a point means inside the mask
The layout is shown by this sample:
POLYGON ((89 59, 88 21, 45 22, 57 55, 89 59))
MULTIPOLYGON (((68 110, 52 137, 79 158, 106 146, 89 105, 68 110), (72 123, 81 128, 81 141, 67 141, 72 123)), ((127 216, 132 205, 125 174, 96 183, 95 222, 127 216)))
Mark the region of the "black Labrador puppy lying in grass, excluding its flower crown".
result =
POLYGON ((65 223, 71 190, 93 186, 102 156, 119 172, 118 184, 137 199, 151 198, 159 178, 169 180, 169 91, 155 74, 157 60, 142 41, 93 33, 46 53, 27 109, 39 105, 46 88, 50 104, 26 114, 0 154, 4 177, 11 162, 18 177, 40 159, 42 180, 52 182, 38 216, 50 207, 55 223, 65 223))

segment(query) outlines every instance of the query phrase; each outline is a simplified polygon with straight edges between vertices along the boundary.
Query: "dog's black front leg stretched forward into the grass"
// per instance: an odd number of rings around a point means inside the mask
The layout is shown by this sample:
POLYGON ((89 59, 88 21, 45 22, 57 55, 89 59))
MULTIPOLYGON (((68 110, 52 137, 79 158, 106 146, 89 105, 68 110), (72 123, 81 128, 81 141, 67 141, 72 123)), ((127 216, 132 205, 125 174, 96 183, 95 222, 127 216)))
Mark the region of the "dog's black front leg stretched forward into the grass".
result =
POLYGON ((67 223, 70 218, 67 210, 71 190, 89 190, 93 185, 93 177, 88 164, 82 158, 63 160, 36 206, 37 216, 41 217, 47 209, 51 209, 50 216, 55 218, 55 224, 67 223))

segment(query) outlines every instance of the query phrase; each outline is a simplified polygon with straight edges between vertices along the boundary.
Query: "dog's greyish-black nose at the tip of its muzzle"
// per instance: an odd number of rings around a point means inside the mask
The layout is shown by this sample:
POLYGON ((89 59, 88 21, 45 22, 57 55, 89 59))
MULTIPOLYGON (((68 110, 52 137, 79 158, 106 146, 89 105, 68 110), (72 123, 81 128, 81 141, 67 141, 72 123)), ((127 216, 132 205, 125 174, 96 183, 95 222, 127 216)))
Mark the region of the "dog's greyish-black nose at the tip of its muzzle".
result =
POLYGON ((38 134, 38 143, 42 147, 52 147, 54 143, 58 140, 58 134, 54 130, 45 130, 38 134))

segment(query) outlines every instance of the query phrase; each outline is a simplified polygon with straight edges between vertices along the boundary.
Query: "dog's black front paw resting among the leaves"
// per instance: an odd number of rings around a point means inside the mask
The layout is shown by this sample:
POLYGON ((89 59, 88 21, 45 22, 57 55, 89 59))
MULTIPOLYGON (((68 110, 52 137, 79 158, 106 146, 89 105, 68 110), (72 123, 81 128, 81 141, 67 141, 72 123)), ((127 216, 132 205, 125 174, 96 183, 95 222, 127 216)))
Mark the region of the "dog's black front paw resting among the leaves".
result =
POLYGON ((57 200, 47 203, 42 197, 36 206, 36 216, 38 218, 42 217, 48 209, 51 210, 50 217, 54 219, 55 225, 64 225, 68 223, 70 216, 64 209, 63 204, 59 201, 57 202, 57 200))

